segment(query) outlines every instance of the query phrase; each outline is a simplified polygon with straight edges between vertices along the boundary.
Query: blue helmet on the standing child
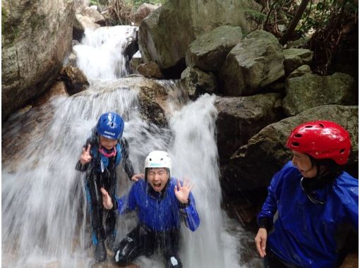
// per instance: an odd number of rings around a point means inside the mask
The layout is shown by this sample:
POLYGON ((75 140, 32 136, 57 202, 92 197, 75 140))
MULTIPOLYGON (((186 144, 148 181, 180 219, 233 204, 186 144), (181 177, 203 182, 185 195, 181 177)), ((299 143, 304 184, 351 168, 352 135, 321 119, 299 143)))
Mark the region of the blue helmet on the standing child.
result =
POLYGON ((105 113, 100 116, 96 127, 97 135, 117 140, 121 138, 124 131, 124 120, 116 113, 105 113))

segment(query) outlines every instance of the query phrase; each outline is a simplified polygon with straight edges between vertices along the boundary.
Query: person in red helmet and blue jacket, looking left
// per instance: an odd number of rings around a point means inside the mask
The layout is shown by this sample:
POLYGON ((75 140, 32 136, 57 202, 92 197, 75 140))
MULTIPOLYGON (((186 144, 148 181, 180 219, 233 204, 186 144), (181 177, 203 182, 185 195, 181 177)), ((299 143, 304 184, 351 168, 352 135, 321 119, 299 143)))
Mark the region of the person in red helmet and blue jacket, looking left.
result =
POLYGON ((359 228, 359 181, 343 171, 349 133, 331 121, 307 122, 287 147, 292 161, 268 187, 256 249, 265 267, 338 267, 347 233, 359 228))

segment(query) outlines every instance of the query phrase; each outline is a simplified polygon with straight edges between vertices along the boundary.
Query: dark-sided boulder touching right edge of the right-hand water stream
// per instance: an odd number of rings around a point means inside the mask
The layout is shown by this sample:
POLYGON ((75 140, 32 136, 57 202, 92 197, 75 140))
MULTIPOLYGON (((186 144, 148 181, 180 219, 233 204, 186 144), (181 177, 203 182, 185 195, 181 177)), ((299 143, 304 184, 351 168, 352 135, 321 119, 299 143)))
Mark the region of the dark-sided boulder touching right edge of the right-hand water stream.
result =
POLYGON ((234 152, 270 123, 281 119, 281 95, 217 97, 217 147, 220 164, 229 162, 234 152))

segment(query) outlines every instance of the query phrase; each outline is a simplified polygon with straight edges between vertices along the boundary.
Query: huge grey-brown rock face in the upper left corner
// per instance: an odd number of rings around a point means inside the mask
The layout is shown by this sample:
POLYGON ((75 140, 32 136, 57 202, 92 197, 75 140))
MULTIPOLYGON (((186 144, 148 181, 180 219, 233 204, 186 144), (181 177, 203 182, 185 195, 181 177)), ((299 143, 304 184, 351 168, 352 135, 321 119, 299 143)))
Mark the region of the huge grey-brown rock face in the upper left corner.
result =
POLYGON ((71 49, 73 1, 1 2, 1 104, 4 121, 54 82, 71 49))

